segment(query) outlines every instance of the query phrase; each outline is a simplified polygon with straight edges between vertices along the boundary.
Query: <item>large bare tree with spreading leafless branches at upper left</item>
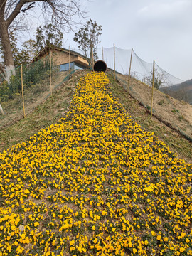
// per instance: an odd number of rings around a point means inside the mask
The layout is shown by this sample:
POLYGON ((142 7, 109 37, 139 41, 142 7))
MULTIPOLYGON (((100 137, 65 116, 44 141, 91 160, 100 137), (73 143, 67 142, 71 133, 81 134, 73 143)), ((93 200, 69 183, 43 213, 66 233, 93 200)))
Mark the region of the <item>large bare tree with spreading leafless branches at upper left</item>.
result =
POLYGON ((14 59, 11 53, 9 28, 17 29, 22 24, 23 16, 29 10, 38 7, 43 15, 53 24, 72 28, 75 25, 74 16, 80 18, 80 0, 1 0, 0 1, 0 39, 4 51, 6 80, 15 74, 14 59), (11 27, 12 26, 12 27, 11 27))

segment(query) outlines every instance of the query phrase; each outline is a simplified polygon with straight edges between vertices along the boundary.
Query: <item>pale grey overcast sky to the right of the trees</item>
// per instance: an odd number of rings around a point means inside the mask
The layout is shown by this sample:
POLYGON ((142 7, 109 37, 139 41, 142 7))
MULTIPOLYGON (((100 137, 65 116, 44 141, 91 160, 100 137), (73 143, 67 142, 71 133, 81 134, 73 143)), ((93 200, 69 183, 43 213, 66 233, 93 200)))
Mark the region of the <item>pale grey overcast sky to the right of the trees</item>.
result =
MULTIPOLYGON (((192 79, 192 0, 83 0, 102 25, 101 46, 134 49, 171 75, 192 79)), ((66 35, 67 36, 67 35, 66 35)), ((68 44, 75 47, 73 36, 68 44)))

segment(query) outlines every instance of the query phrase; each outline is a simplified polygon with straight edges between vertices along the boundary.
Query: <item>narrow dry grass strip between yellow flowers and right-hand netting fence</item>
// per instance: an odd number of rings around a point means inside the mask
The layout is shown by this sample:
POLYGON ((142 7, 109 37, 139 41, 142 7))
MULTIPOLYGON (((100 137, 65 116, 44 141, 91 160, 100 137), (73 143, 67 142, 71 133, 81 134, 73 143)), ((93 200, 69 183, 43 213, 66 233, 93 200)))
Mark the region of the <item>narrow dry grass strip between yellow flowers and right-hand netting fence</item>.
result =
POLYGON ((191 142, 188 142, 180 134, 159 122, 155 117, 151 117, 149 112, 147 112, 142 105, 139 105, 137 100, 129 97, 127 91, 124 90, 119 82, 114 81, 112 75, 109 75, 109 78, 111 82, 110 91, 112 92, 112 95, 117 97, 117 100, 124 105, 125 110, 130 116, 132 116, 132 119, 138 122, 143 129, 154 132, 156 137, 166 142, 167 146, 169 146, 172 151, 177 152, 181 158, 188 160, 192 159, 191 142))

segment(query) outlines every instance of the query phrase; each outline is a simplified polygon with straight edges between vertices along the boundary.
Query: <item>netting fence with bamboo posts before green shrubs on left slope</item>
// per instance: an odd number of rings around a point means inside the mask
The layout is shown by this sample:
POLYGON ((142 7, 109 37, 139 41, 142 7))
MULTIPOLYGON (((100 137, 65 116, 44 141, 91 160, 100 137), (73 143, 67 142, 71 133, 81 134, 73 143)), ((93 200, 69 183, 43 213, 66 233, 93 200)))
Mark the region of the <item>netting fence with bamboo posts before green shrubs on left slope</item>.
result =
POLYGON ((50 56, 16 68, 9 83, 0 85, 0 129, 26 117, 65 81, 73 70, 61 71, 50 56))

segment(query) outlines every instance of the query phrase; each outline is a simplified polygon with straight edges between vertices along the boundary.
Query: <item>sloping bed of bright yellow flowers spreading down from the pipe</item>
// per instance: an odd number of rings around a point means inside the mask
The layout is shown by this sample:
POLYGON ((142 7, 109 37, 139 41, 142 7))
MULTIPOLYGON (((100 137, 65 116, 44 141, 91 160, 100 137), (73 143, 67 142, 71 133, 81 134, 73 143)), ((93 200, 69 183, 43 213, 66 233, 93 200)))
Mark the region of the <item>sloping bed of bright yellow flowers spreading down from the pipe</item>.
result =
POLYGON ((0 154, 0 255, 192 255, 191 164, 89 73, 57 124, 0 154))

